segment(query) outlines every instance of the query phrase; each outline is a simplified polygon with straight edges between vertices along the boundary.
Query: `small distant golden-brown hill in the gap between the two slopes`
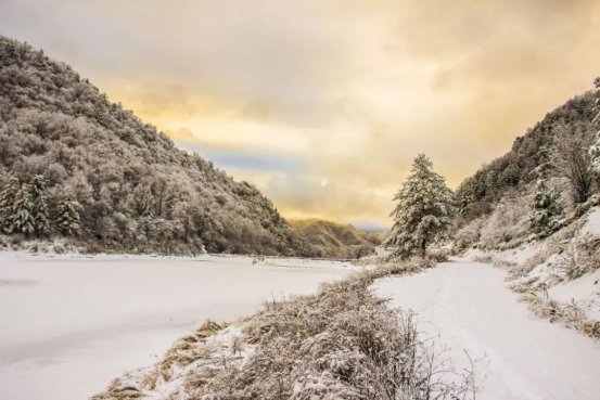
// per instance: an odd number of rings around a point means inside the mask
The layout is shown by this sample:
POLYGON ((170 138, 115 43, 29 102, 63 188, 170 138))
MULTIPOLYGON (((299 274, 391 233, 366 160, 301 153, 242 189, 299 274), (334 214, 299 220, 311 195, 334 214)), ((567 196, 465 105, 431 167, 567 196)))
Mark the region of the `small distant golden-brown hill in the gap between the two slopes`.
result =
POLYGON ((367 233, 352 224, 319 219, 290 220, 290 224, 324 258, 359 258, 373 254, 382 242, 379 233, 367 233))

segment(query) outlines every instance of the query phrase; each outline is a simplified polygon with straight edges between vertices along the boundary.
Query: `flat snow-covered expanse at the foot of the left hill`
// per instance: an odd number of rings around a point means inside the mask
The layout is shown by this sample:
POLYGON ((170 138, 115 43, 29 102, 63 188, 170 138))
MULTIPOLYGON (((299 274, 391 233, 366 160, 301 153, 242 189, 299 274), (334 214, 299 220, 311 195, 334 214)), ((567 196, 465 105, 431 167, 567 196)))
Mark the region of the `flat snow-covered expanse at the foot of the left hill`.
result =
POLYGON ((0 399, 81 400, 149 365, 205 319, 314 293, 352 268, 247 257, 0 253, 0 399))

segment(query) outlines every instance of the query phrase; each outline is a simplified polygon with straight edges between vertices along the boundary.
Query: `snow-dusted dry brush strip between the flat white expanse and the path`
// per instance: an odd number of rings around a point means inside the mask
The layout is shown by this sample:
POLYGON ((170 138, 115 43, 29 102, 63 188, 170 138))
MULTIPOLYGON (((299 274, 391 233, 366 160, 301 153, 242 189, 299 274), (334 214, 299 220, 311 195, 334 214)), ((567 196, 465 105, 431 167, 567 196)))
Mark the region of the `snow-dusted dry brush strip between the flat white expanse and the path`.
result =
POLYGON ((178 340, 142 378, 113 383, 97 400, 139 393, 173 400, 474 399, 473 374, 443 379, 452 372, 420 340, 411 315, 370 291, 375 279, 433 264, 387 262, 316 295, 267 302, 239 323, 240 334, 228 336, 225 347, 204 336, 221 326, 205 325, 178 340), (165 389, 174 382, 180 384, 165 389))

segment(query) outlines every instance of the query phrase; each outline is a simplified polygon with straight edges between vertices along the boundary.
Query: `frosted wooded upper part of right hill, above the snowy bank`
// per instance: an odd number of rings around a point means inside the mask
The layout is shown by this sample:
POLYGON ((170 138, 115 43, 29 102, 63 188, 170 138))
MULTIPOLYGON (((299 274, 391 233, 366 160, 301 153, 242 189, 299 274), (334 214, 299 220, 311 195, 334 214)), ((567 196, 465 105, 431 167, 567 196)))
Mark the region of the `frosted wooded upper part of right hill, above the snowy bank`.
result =
POLYGON ((598 203, 590 149, 599 104, 600 90, 567 101, 460 184, 459 247, 508 248, 544 238, 598 203))

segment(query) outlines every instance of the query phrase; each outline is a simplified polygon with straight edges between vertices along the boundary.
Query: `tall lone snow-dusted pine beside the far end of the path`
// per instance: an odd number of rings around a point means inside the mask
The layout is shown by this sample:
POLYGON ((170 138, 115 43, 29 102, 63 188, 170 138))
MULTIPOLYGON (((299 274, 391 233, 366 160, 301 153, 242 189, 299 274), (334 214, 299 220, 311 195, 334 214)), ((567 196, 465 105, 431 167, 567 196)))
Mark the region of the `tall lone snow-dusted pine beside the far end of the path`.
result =
POLYGON ((386 244, 398 246, 395 255, 425 256, 427 245, 439 238, 455 214, 454 194, 432 162, 419 154, 403 188, 394 196, 394 225, 386 244))

